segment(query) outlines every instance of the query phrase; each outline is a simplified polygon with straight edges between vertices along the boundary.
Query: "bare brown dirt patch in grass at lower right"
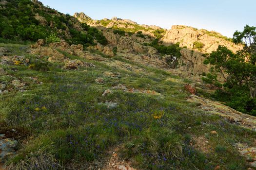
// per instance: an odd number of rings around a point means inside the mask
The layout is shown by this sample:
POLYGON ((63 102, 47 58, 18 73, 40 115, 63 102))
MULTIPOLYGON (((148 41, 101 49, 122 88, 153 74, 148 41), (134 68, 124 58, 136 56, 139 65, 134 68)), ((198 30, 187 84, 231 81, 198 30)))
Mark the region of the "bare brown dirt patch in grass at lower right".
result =
POLYGON ((203 153, 210 153, 212 150, 212 147, 209 143, 209 140, 207 140, 204 136, 193 136, 192 137, 192 143, 197 150, 203 152, 203 153))

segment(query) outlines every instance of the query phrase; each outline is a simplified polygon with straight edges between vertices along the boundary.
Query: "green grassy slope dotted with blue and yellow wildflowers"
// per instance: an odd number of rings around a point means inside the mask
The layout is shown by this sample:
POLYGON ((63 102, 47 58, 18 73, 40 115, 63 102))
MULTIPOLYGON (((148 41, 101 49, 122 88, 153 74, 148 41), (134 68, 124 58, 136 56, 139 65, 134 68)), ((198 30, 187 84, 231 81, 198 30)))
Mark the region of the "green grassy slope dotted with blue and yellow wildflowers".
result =
MULTIPOLYGON (((36 59, 26 53, 26 45, 0 46, 7 47, 11 54, 36 59)), ((44 169, 63 169, 70 163, 81 167, 97 161, 103 164, 111 156, 109 150, 115 147, 120 148, 122 159, 130 160, 138 169, 214 170, 217 165, 225 170, 248 168, 246 159, 239 156, 233 145, 253 144, 256 133, 208 115, 187 102, 188 94, 180 89, 184 91, 184 84, 191 80, 122 57, 113 61, 143 71, 136 73, 78 56, 67 57, 91 62, 96 68, 63 70, 61 63, 50 64, 46 71, 23 65, 3 67, 9 76, 1 76, 0 82, 10 89, 13 79, 27 82, 27 91, 10 90, 0 96, 0 129, 26 132, 20 143, 26 142, 20 144, 18 155, 7 163, 9 169, 33 169, 35 164, 44 169), (105 71, 120 73, 120 77, 104 77, 105 71), (36 77, 43 84, 29 81, 29 77, 36 77), (105 84, 96 84, 98 77, 103 77, 105 84), (166 81, 168 78, 173 79, 166 81), (122 90, 102 96, 104 90, 118 84, 155 90, 163 97, 122 90), (99 104, 105 101, 118 106, 107 108, 99 104), (211 131, 218 135, 210 134, 211 131), (195 149, 191 136, 206 136, 214 149, 211 153, 195 149)))

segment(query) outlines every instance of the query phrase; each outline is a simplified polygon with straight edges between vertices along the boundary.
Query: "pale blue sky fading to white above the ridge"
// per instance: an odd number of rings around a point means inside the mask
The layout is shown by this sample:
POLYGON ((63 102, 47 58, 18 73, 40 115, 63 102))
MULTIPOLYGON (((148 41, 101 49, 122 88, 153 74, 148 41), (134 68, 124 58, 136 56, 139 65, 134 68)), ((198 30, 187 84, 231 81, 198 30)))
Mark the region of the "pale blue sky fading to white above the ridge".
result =
POLYGON ((187 25, 233 37, 256 26, 256 0, 39 0, 64 14, 84 12, 93 19, 118 17, 138 24, 187 25))

